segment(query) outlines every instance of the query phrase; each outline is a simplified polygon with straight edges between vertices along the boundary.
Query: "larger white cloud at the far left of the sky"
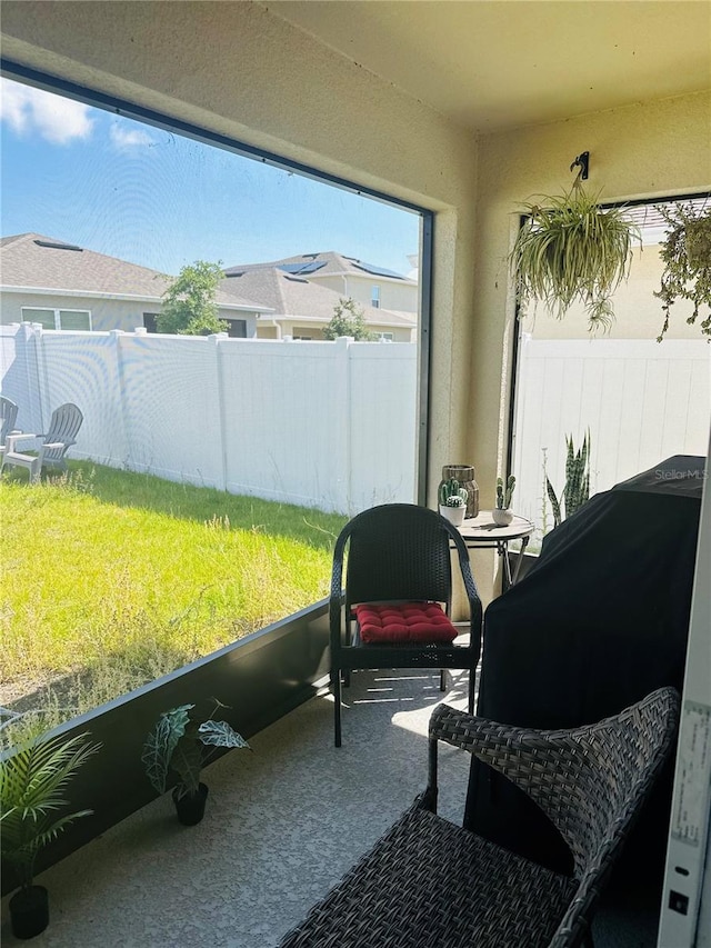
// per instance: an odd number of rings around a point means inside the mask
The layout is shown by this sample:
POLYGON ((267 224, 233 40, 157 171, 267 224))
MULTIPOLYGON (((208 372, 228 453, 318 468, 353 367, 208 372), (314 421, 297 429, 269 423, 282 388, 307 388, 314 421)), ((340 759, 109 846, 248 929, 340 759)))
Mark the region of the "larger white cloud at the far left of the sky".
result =
POLYGON ((52 144, 89 138, 93 126, 89 106, 9 79, 0 86, 0 119, 18 134, 34 131, 52 144))

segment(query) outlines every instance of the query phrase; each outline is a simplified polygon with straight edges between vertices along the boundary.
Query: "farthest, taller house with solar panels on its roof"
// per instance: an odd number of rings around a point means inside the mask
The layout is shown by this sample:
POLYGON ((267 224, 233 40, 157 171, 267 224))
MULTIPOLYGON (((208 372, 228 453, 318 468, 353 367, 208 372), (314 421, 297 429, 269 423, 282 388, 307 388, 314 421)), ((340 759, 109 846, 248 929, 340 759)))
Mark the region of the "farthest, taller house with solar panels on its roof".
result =
POLYGON ((230 276, 273 267, 294 277, 304 277, 310 282, 353 299, 363 307, 410 313, 417 313, 419 310, 420 293, 417 280, 334 251, 302 253, 269 263, 237 265, 228 267, 224 272, 230 276))

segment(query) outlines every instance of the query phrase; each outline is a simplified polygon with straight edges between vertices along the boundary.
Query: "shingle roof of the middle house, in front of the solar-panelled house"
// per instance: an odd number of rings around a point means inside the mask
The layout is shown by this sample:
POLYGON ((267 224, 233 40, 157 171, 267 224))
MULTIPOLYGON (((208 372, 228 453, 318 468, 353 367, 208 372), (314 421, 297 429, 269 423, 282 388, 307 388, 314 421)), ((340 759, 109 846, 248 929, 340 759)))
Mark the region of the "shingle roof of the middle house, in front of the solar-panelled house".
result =
MULTIPOLYGON (((224 293, 234 292, 258 299, 263 306, 272 308, 274 316, 317 318, 327 322, 333 316, 333 307, 341 298, 341 293, 334 290, 312 283, 304 277, 284 273, 277 267, 256 267, 242 271, 241 276, 224 279, 220 289, 224 293)), ((362 310, 368 323, 412 328, 417 321, 414 313, 393 312, 370 306, 363 306, 362 310)))

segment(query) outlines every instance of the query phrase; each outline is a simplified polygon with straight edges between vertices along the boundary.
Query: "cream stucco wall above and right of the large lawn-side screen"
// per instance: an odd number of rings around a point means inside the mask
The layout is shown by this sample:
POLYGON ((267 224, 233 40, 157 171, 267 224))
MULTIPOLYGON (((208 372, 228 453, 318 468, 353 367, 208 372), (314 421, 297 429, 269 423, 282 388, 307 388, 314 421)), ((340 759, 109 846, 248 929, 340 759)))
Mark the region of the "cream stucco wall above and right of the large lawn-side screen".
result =
POLYGON ((474 137, 252 3, 6 0, 2 34, 8 59, 440 211, 433 497, 469 428, 474 137))

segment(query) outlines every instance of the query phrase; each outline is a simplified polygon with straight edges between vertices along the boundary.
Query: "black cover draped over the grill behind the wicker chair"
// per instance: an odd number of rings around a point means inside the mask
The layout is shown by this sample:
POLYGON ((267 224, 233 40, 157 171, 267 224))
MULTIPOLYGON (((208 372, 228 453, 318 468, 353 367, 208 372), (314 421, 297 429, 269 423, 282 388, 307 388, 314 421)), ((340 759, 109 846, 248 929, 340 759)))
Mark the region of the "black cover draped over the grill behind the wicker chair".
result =
MULTIPOLYGON (((484 615, 477 712, 567 728, 655 688, 681 693, 705 459, 677 456, 592 497, 543 540, 533 568, 484 615)), ((673 765, 625 847, 661 882, 673 765)), ((567 846, 522 791, 473 760, 464 826, 559 871, 567 846)))

